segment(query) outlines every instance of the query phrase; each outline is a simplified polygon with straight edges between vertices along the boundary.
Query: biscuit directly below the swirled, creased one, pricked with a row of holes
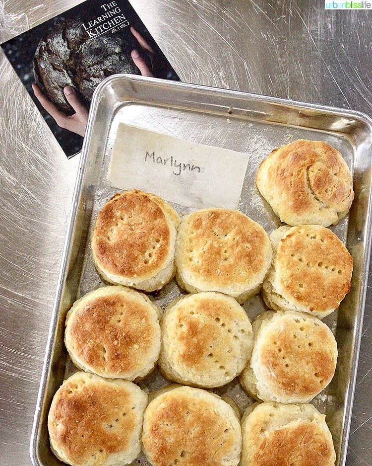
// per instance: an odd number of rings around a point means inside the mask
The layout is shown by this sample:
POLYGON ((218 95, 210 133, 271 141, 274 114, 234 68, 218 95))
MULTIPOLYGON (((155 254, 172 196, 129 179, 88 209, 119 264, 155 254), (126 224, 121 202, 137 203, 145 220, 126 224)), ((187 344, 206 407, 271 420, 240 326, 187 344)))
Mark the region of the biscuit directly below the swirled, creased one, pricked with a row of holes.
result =
POLYGON ((353 258, 342 241, 319 225, 280 227, 270 240, 274 260, 262 286, 266 305, 319 318, 338 308, 353 272, 353 258))

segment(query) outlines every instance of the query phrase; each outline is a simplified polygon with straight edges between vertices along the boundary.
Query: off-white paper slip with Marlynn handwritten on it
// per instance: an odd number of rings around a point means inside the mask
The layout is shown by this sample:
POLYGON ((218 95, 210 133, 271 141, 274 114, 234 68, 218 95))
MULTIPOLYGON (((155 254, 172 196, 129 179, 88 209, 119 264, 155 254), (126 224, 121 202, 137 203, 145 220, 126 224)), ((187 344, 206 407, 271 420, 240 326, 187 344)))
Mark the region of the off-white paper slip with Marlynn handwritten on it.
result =
POLYGON ((238 207, 249 155, 120 124, 112 187, 152 192, 187 207, 238 207))

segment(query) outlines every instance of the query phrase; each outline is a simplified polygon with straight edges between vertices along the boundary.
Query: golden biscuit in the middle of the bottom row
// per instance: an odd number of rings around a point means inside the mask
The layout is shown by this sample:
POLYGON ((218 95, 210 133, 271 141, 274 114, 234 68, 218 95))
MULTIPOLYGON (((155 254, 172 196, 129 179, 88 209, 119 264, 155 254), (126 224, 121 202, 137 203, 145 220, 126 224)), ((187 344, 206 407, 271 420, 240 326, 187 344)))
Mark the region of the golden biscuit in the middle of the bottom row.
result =
POLYGON ((150 401, 142 444, 153 466, 236 466, 242 433, 234 409, 219 396, 178 387, 150 401))

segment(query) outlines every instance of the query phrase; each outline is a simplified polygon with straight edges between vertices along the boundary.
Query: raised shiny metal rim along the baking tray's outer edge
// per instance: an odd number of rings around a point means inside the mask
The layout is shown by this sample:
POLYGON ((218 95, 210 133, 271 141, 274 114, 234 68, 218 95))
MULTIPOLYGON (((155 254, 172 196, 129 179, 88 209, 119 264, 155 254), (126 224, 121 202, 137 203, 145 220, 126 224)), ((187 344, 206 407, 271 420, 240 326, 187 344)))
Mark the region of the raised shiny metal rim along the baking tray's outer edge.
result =
MULTIPOLYGON (((232 90, 226 89, 221 87, 212 87, 207 85, 201 84, 192 84, 192 83, 185 83, 181 81, 172 81, 167 79, 160 79, 160 78, 150 78, 150 77, 143 77, 143 76, 136 76, 136 75, 128 75, 128 74, 117 74, 112 75, 108 78, 105 78, 101 83, 96 87, 93 98, 90 105, 89 115, 88 115, 88 123, 86 127, 86 132, 83 140, 83 146, 81 153, 77 156, 80 157, 78 170, 75 179, 75 185, 72 195, 72 205, 67 221, 67 228, 66 228, 66 235, 64 238, 63 248, 62 248, 62 259, 60 264, 60 271, 57 280, 57 287, 56 287, 56 294, 53 304, 53 309, 51 313, 51 321, 48 330, 48 338, 46 344, 46 350, 43 360, 43 367, 40 379, 40 386, 38 390, 37 400, 36 400, 36 408, 35 414, 33 419, 33 426, 30 438, 30 447, 29 447, 29 454, 34 466, 43 466, 38 459, 37 455, 37 443, 39 437, 39 427, 40 427, 40 415, 41 415, 41 407, 42 401, 45 395, 45 389, 48 382, 48 376, 50 373, 51 368, 51 356, 53 352, 53 340, 55 337, 55 328, 56 323, 58 321, 59 309, 61 306, 62 301, 62 290, 65 281, 67 263, 69 259, 69 250, 71 245, 71 238, 73 236, 73 230, 75 226, 75 221, 77 217, 77 211, 79 207, 79 200, 80 195, 83 187, 83 180, 84 175, 87 167, 87 158, 89 155, 89 142, 92 136, 93 127, 94 127, 94 118, 97 113, 97 109, 102 100, 102 94, 105 91, 106 87, 110 86, 113 82, 118 80, 126 80, 132 81, 137 83, 147 83, 150 85, 155 86, 165 86, 165 87, 181 87, 184 89, 188 89, 190 91, 201 91, 201 92, 208 92, 208 93, 216 93, 216 94, 223 94, 226 96, 237 97, 237 98, 244 98, 251 101, 258 101, 258 102, 266 102, 269 104, 278 105, 281 107, 293 107, 299 109, 306 109, 306 110, 316 110, 322 112, 324 114, 332 114, 332 115, 342 115, 343 117, 351 117, 355 120, 363 122, 369 128, 369 134, 372 142, 372 118, 366 115, 363 112, 357 110, 349 110, 340 107, 333 107, 329 105, 319 105, 313 104, 309 102, 302 102, 299 100, 291 100, 285 99, 281 97, 271 97, 268 95, 262 94, 255 94, 251 92, 245 92, 240 90, 232 90)), ((127 99, 123 99, 122 102, 125 102, 127 99)), ((252 118, 253 119, 253 118, 252 118)), ((267 122, 268 124, 270 121, 267 122)), ((271 123, 275 124, 275 122, 271 121, 271 123)), ((279 122, 277 124, 280 124, 279 122)), ((290 125, 286 125, 290 126, 290 125)), ((301 127, 299 125, 293 125, 297 127, 301 127)), ((314 128, 308 128, 314 129, 314 128)), ((320 130, 318 130, 320 131, 320 130)), ((368 209, 367 209, 367 217, 366 217, 366 236, 365 236, 365 254, 363 257, 363 265, 362 265, 362 283, 361 283, 361 297, 360 302, 358 305, 358 312, 357 318, 355 322, 355 344, 352 350, 352 364, 351 364, 351 372, 350 372, 350 383, 349 387, 345 396, 345 413, 343 419, 345 420, 344 423, 344 434, 341 440, 340 452, 341 456, 339 459, 339 466, 344 466, 346 463, 346 454, 347 454, 347 447, 348 447, 348 440, 350 434, 350 424, 351 424, 351 415, 352 415, 352 408, 353 408, 353 400, 356 388, 356 377, 357 377, 357 370, 358 370, 358 361, 359 361, 359 354, 360 354, 360 343, 362 338, 362 331, 363 331, 363 317, 365 311, 365 302, 367 296, 367 286, 368 286, 368 271, 370 266, 370 258, 371 258, 371 239, 372 239, 372 179, 370 182, 370 193, 368 198, 368 209)))

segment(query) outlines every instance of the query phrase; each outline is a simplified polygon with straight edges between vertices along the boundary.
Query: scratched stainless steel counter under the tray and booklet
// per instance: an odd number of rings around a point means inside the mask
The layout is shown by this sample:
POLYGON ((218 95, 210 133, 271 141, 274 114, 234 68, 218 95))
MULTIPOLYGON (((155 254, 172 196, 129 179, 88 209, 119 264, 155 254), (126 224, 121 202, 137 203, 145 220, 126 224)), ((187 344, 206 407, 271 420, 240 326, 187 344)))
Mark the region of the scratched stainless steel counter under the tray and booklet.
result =
MULTIPOLYGON (((0 2, 0 40, 80 1, 0 2)), ((372 115, 372 11, 287 0, 132 0, 182 80, 372 115)), ((26 466, 78 156, 0 55, 0 458, 26 466)), ((372 465, 372 271, 348 466, 372 465)))

